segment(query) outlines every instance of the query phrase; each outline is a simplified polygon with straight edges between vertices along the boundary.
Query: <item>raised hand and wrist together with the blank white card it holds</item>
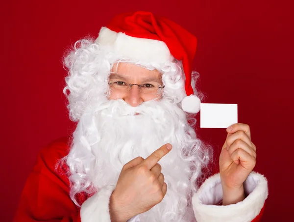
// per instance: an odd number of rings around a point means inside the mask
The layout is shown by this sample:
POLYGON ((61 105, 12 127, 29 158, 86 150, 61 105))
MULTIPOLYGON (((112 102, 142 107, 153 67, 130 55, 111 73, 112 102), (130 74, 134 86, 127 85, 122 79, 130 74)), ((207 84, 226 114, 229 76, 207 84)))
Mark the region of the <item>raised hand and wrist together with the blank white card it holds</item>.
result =
POLYGON ((201 104, 201 128, 226 128, 227 138, 221 149, 220 175, 223 205, 245 198, 243 183, 256 164, 256 146, 250 128, 238 122, 237 104, 201 104))

